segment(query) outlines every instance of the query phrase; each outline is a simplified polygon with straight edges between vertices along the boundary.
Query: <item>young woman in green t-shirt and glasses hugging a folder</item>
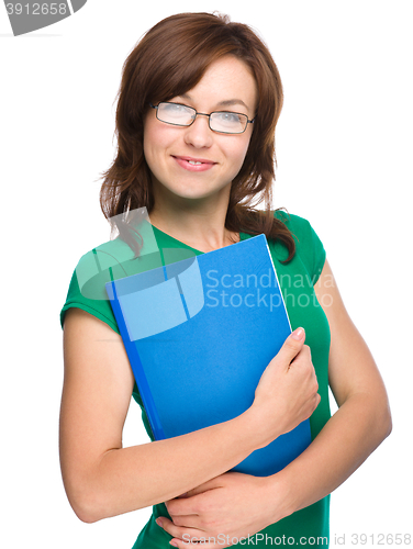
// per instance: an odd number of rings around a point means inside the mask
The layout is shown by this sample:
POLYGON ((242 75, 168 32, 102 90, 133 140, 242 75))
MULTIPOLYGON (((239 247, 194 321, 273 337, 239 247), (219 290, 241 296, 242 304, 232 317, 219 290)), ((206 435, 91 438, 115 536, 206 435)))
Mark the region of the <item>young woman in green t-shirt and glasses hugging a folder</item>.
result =
MULTIPOLYGON (((63 479, 87 523, 154 505, 135 548, 190 540, 211 549, 277 540, 326 547, 328 494, 391 430, 386 389, 322 243, 308 221, 270 210, 281 107, 267 47, 225 18, 170 16, 124 65, 118 156, 101 192, 105 216, 146 206, 160 249, 197 255, 264 233, 294 330, 244 414, 123 448, 131 395, 142 401, 109 302, 85 295, 75 271, 62 311, 63 479), (339 406, 333 417, 328 384, 339 406), (312 444, 279 473, 228 472, 308 417, 312 444)), ((127 231, 124 237, 131 242, 127 231)), ((141 245, 132 240, 136 255, 141 245)), ((143 417, 147 426, 144 410, 143 417)))

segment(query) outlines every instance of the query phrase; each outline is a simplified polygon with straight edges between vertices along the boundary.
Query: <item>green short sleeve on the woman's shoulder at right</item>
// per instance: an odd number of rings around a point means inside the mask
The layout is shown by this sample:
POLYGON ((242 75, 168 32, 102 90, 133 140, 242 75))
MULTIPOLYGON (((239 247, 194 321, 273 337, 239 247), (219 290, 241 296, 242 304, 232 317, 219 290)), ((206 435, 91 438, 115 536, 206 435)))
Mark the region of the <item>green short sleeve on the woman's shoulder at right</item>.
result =
POLYGON ((308 220, 299 215, 287 214, 279 210, 275 212, 275 215, 292 233, 295 240, 295 254, 300 256, 311 277, 312 283, 315 284, 326 258, 322 240, 308 220))

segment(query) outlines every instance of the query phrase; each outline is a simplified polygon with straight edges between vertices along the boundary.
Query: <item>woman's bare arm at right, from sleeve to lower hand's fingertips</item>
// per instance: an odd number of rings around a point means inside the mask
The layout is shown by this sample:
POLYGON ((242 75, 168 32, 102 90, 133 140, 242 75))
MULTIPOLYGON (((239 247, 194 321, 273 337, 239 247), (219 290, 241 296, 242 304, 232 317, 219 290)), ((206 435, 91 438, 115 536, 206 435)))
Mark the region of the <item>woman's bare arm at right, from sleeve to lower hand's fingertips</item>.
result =
MULTIPOLYGON (((349 318, 326 262, 315 284, 331 328, 330 384, 339 410, 282 471, 260 478, 225 473, 167 502, 161 526, 186 547, 188 536, 241 538, 333 492, 391 432, 389 402, 375 360, 349 318), (183 538, 183 535, 187 535, 183 538), (182 541, 183 539, 183 541, 182 541)), ((223 547, 208 545, 205 547, 223 547)), ((226 546, 225 546, 226 547, 226 546)))

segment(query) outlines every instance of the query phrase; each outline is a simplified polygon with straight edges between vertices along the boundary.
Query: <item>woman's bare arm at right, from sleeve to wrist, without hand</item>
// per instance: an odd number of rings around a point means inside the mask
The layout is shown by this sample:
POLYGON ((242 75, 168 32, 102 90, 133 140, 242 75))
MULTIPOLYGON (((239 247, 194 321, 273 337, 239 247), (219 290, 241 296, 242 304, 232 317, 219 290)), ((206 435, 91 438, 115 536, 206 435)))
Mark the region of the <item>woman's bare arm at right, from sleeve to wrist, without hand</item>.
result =
POLYGON ((315 284, 332 334, 328 381, 338 411, 313 444, 277 479, 288 494, 288 514, 339 486, 391 433, 384 383, 365 340, 351 322, 328 262, 315 284))

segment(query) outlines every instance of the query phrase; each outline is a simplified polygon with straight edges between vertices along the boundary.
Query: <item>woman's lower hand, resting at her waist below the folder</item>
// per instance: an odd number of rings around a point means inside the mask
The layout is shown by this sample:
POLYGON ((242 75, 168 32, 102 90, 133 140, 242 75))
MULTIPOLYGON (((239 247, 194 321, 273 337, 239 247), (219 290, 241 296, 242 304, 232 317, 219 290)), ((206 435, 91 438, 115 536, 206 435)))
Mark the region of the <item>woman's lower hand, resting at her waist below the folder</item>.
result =
POLYGON ((277 492, 269 490, 269 478, 227 472, 166 502, 172 520, 160 517, 157 524, 174 536, 175 547, 198 540, 208 549, 222 549, 286 516, 277 492))

